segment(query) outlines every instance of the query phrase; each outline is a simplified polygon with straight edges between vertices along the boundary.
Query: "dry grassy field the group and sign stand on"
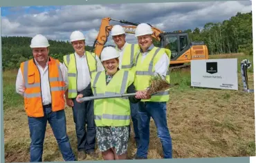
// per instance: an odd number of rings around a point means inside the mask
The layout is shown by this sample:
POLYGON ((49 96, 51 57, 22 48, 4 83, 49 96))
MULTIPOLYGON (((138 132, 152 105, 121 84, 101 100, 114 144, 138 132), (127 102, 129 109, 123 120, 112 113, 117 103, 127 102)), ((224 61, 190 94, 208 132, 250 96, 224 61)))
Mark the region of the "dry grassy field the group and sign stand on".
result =
MULTIPOLYGON (((248 58, 242 54, 223 54, 211 58, 248 58)), ((240 66, 239 66, 240 67, 240 66)), ((167 120, 172 135, 173 157, 236 157, 255 155, 254 94, 239 91, 190 87, 190 69, 174 71, 167 120)), ((15 93, 17 71, 3 73, 4 142, 6 162, 29 162, 29 131, 23 99, 15 93)), ((253 89, 253 67, 248 70, 249 87, 253 89)), ((75 124, 71 108, 66 107, 67 132, 75 155, 75 124)), ((161 142, 151 121, 149 159, 162 157, 161 142)), ((134 133, 131 133, 132 137, 134 133)), ((134 140, 129 142, 129 157, 136 152, 134 140)), ((88 158, 90 159, 90 158, 88 158)), ((102 158, 100 158, 102 159, 102 158)), ((62 161, 50 126, 44 141, 44 161, 62 161)))

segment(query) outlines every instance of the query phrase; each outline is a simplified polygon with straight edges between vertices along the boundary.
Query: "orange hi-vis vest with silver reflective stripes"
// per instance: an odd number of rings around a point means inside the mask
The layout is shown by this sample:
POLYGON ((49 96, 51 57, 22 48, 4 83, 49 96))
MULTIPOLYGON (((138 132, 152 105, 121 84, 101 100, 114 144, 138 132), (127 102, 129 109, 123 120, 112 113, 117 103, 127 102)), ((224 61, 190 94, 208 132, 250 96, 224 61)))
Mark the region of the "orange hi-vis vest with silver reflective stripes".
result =
MULTIPOLYGON (((21 63, 21 73, 25 85, 25 111, 31 117, 43 117, 41 78, 34 59, 21 63)), ((48 77, 51 89, 52 110, 60 111, 65 107, 64 78, 60 70, 60 62, 51 57, 49 57, 48 61, 48 77)))

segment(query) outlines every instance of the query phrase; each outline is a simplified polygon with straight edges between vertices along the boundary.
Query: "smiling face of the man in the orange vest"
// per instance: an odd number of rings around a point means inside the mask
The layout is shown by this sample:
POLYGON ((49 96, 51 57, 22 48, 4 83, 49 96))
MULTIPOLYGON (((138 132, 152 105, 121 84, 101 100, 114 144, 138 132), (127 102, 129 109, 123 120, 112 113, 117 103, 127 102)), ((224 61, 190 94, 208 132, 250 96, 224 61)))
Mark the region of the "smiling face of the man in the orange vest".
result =
POLYGON ((32 52, 33 52, 35 61, 37 61, 37 63, 41 65, 47 62, 47 58, 49 54, 48 47, 36 47, 36 48, 33 48, 32 52))

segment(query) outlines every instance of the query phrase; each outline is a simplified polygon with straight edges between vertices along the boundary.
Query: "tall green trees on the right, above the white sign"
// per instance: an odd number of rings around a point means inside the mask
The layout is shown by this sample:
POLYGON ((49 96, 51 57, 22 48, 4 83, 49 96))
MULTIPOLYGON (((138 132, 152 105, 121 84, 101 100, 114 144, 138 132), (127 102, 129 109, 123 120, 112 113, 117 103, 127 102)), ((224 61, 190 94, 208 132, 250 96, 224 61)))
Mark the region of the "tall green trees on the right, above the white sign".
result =
POLYGON ((209 54, 244 52, 253 55, 252 12, 241 14, 222 23, 206 23, 203 30, 185 30, 191 41, 204 41, 209 54))

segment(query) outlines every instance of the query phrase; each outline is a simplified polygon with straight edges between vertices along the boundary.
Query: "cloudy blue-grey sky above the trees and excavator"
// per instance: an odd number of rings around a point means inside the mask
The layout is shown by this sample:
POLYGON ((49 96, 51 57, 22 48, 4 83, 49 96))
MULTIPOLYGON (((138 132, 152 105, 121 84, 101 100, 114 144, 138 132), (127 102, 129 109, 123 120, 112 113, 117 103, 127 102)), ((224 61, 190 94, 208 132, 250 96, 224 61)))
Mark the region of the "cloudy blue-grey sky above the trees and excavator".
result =
MULTIPOLYGON (((251 1, 8 7, 1 8, 1 35, 33 37, 43 34, 48 39, 68 41, 71 32, 80 30, 86 36, 86 45, 92 45, 104 17, 150 23, 171 32, 203 28, 205 23, 222 22, 237 12, 251 10, 251 1)), ((115 21, 110 23, 116 24, 115 21)), ((134 34, 127 34, 127 42, 136 43, 134 34)), ((113 45, 111 36, 106 45, 113 45)))

